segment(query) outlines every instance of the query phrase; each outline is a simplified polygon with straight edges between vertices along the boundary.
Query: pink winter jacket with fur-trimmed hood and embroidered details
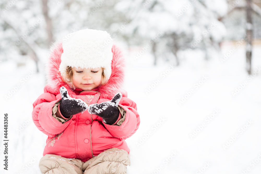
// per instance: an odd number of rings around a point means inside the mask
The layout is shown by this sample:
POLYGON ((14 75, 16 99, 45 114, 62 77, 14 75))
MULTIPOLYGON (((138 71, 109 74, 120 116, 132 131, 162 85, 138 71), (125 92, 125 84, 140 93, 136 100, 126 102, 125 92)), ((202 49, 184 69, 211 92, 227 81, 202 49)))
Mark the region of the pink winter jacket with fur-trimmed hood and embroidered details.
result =
POLYGON ((36 127, 48 135, 45 154, 60 155, 87 161, 106 149, 113 147, 124 149, 129 153, 124 141, 132 136, 139 127, 140 119, 137 106, 127 98, 127 92, 121 89, 124 78, 124 59, 117 47, 112 47, 112 73, 109 81, 91 91, 73 90, 62 80, 59 72, 62 44, 55 44, 49 60, 49 84, 33 103, 32 118, 36 127), (88 105, 111 100, 117 92, 122 93, 119 102, 121 120, 117 125, 109 125, 102 118, 84 111, 73 115, 68 120, 55 117, 54 110, 61 100, 60 87, 67 88, 72 98, 85 101, 88 105))

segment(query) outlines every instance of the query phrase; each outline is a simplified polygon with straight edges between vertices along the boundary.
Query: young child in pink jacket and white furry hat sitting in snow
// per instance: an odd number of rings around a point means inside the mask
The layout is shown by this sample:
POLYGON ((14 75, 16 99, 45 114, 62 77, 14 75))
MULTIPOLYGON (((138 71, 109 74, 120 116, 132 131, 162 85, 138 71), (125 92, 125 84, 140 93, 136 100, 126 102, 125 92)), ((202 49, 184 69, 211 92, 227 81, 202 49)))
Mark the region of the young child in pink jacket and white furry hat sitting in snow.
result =
POLYGON ((42 173, 126 173, 124 140, 140 119, 121 89, 124 59, 111 40, 105 31, 84 29, 52 48, 49 83, 32 112, 34 124, 48 135, 42 173))

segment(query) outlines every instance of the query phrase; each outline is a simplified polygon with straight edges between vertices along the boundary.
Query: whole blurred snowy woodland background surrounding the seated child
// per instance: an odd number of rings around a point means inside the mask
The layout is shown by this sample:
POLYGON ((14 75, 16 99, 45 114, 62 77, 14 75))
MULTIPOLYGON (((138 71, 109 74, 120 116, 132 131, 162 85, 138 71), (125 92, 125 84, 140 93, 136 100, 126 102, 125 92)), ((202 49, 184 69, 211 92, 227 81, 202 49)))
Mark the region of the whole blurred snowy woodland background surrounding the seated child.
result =
POLYGON ((261 173, 260 0, 1 0, 0 173, 40 173, 32 103, 50 45, 106 30, 126 52, 140 128, 127 173, 261 173), (8 170, 4 114, 8 113, 8 170))

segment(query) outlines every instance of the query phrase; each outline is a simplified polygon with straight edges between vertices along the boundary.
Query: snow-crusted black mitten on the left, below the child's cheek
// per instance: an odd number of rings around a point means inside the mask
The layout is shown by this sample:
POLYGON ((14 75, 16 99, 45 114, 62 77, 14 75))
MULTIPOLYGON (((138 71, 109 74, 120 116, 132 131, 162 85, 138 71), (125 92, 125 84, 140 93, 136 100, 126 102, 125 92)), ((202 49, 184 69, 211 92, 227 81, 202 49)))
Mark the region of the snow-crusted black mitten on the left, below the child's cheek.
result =
POLYGON ((62 86, 60 88, 60 93, 62 95, 60 112, 65 118, 69 118, 72 115, 88 109, 88 105, 84 101, 70 97, 65 87, 62 86))

